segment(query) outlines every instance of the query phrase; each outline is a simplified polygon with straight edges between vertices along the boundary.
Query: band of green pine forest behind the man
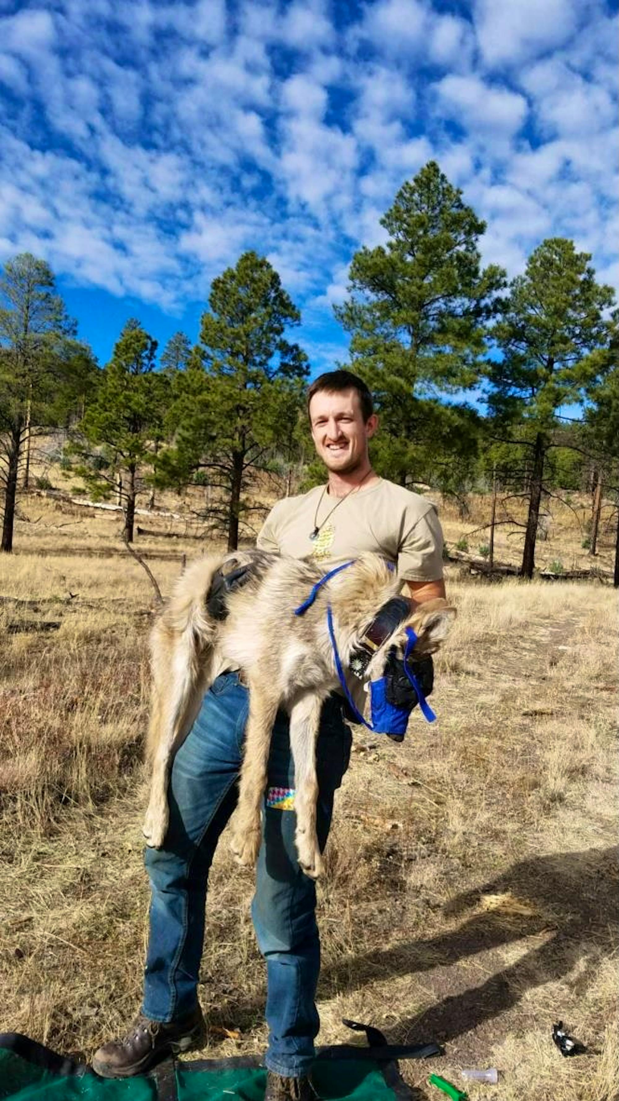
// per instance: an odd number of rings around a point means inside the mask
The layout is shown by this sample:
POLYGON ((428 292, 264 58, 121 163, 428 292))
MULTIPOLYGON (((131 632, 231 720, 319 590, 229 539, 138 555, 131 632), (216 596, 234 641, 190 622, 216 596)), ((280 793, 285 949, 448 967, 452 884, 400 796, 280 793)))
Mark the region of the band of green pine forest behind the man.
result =
MULTIPOLYGON (((463 517, 475 494, 490 494, 483 557, 493 565, 497 523, 517 524, 528 578, 548 503, 560 498, 570 508, 571 493, 590 494, 583 547, 594 558, 600 517, 614 524, 619 586, 612 288, 564 238, 543 240, 512 280, 497 265, 484 268, 486 226, 435 162, 402 185, 382 226, 386 243, 352 259, 347 298, 335 307, 350 334, 350 361, 333 364, 361 374, 375 394, 375 469, 440 492, 463 517)), ((37 442, 58 430, 63 470, 90 500, 121 505, 129 544, 139 505, 198 486, 199 517, 234 549, 264 511, 256 486, 265 478, 285 492, 323 478, 305 411, 310 364, 294 339, 300 326, 277 271, 250 251, 213 280, 195 344, 177 333, 159 350, 130 318, 100 366, 79 340, 49 266, 30 253, 7 261, 2 552, 12 550, 37 442)), ((37 478, 40 489, 44 481, 37 478)))

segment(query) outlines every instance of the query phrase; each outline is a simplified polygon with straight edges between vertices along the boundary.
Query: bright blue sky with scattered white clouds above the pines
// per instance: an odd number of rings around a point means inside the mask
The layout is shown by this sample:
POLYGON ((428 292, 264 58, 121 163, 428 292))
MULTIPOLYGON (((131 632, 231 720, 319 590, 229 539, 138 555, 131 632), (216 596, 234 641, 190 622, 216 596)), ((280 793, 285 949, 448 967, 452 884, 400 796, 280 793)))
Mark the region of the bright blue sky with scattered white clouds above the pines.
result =
POLYGON ((351 257, 431 157, 510 274, 544 237, 619 284, 617 4, 0 0, 0 262, 54 269, 101 362, 128 317, 191 340, 255 249, 312 371, 351 257))

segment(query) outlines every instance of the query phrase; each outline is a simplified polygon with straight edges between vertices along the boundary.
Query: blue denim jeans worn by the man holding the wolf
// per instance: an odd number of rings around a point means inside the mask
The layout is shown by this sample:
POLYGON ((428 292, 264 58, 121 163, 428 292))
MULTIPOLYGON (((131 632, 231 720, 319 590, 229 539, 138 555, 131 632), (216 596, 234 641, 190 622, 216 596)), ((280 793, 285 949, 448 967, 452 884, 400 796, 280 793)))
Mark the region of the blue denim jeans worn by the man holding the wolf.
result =
MULTIPOLYGON (((154 1021, 174 1021, 197 1004, 209 870, 220 833, 236 805, 247 710, 248 693, 237 675, 218 677, 174 759, 165 848, 146 849, 152 895, 142 1012, 154 1021)), ((322 709, 317 746, 321 849, 350 752, 351 732, 342 717, 342 700, 331 696, 322 709)), ((273 729, 267 789, 294 786, 288 717, 279 711, 273 729)), ((295 825, 294 810, 267 806, 265 799, 252 903, 267 968, 266 1066, 288 1077, 307 1072, 319 1029, 314 1004, 320 970, 316 884, 298 865, 295 825)))

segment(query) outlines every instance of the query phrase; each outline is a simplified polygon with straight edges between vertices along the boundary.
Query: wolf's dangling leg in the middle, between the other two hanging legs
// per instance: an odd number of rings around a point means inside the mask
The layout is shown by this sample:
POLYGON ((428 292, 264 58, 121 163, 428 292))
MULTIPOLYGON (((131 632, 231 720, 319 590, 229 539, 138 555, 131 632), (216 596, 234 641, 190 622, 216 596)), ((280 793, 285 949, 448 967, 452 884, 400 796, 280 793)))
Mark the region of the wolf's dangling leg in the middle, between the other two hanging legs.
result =
POLYGON ((277 697, 259 682, 250 683, 250 717, 241 768, 239 810, 234 824, 232 851, 240 864, 254 864, 262 837, 261 806, 266 787, 270 732, 277 715, 277 697))

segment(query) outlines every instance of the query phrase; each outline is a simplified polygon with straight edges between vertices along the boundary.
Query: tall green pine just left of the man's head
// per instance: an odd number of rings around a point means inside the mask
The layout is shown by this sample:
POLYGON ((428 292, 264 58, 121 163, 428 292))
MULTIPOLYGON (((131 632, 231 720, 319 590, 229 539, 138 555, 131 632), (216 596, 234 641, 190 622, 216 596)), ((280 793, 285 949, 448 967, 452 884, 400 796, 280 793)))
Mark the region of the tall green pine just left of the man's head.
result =
POLYGON ((232 550, 241 515, 254 508, 244 500, 248 480, 297 416, 307 357, 285 334, 299 321, 275 269, 245 252, 213 280, 200 342, 177 375, 174 447, 161 454, 159 476, 180 484, 208 473, 220 494, 210 520, 232 550))

